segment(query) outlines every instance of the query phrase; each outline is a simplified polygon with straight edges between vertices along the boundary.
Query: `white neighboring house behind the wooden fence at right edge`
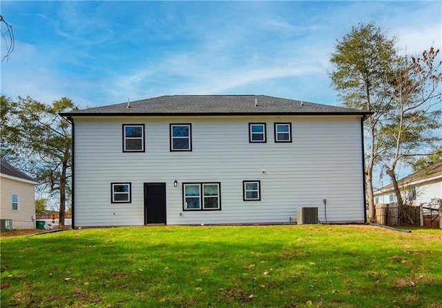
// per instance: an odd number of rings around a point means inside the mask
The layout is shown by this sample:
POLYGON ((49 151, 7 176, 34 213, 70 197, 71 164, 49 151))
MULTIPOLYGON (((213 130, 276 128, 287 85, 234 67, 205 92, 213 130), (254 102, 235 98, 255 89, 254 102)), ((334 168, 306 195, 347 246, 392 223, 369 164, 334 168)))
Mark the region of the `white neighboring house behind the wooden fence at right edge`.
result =
MULTIPOLYGON (((428 165, 423 170, 414 172, 398 180, 403 201, 411 205, 428 203, 432 198, 442 199, 442 161, 428 165)), ((393 184, 386 185, 374 193, 374 203, 396 202, 393 184)))

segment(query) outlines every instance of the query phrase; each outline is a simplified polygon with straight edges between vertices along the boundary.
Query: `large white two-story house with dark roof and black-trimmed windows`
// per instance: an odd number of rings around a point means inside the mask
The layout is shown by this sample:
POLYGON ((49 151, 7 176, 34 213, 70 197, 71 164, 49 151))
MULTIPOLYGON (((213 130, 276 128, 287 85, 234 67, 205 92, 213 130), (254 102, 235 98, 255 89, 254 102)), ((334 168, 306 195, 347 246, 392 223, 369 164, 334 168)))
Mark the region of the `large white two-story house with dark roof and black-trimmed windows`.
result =
POLYGON ((371 112, 264 95, 176 95, 62 113, 73 227, 365 223, 371 112))

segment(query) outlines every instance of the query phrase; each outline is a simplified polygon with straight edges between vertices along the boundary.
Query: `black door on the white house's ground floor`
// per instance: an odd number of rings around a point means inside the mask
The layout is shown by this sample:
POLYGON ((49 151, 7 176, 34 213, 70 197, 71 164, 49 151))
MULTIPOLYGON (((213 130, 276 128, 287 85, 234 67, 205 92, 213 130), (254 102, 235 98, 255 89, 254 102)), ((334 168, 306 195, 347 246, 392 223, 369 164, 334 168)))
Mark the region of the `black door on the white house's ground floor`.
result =
POLYGON ((166 183, 144 183, 144 224, 166 223, 166 183))

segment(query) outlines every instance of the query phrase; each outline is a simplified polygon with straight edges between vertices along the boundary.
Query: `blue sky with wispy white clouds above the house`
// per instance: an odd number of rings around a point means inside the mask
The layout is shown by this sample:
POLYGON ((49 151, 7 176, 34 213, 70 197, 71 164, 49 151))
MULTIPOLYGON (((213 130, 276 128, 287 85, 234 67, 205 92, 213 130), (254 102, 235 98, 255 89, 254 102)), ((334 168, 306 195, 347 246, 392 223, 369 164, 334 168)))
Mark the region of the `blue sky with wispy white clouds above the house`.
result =
POLYGON ((374 22, 411 54, 441 47, 441 12, 441 1, 1 1, 15 34, 1 93, 81 107, 165 94, 337 105, 328 59, 352 25, 374 22))

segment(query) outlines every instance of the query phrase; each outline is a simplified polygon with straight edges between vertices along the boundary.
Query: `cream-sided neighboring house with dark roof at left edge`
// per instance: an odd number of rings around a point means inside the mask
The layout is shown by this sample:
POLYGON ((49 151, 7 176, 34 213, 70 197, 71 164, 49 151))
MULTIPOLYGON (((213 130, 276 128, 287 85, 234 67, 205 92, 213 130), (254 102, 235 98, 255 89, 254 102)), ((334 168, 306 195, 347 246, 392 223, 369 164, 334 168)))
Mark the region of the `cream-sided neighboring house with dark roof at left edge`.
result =
POLYGON ((0 161, 1 219, 11 219, 13 229, 35 228, 35 185, 16 167, 0 161))

